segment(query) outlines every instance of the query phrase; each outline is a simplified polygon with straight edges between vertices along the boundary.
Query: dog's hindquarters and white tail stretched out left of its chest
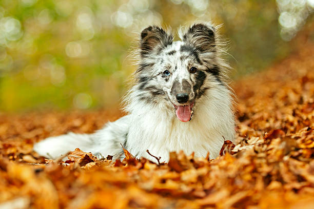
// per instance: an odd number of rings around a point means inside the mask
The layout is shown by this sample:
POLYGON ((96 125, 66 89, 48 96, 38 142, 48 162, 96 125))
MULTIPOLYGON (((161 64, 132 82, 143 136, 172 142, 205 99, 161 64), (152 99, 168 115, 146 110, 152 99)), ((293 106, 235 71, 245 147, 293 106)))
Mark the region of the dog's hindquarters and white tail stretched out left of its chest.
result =
POLYGON ((106 123, 105 127, 94 134, 68 133, 49 137, 34 144, 33 150, 49 159, 59 158, 69 151, 80 148, 91 152, 96 157, 112 155, 113 159, 123 155, 121 144, 126 144, 130 116, 124 116, 114 122, 106 123))

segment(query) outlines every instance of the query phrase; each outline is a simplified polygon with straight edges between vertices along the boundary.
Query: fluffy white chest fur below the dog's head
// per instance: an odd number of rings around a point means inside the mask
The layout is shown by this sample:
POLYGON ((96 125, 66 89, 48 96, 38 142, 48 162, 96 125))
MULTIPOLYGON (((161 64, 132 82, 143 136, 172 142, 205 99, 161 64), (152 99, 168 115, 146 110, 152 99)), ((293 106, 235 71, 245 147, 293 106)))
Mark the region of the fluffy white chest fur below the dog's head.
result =
POLYGON ((213 101, 210 97, 199 101, 192 120, 185 123, 163 107, 134 107, 130 117, 127 149, 136 157, 144 156, 154 161, 146 150, 161 157, 161 161, 168 161, 169 152, 179 150, 183 150, 186 155, 194 152, 195 156, 206 157, 209 152, 211 159, 217 157, 224 138, 233 140, 233 117, 230 102, 226 102, 230 99, 224 98, 228 96, 222 96, 221 102, 217 98, 213 101))

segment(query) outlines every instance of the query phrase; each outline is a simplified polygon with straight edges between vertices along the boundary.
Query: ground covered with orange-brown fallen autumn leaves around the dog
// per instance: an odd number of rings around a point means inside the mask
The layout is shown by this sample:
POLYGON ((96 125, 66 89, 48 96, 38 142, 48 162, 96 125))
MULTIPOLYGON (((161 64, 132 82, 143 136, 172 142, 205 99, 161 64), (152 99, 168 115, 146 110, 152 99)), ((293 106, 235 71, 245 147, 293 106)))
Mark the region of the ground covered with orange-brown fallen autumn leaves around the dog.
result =
POLYGON ((0 115, 0 208, 314 208, 314 45, 234 83, 237 143, 168 164, 78 149, 47 160, 34 142, 91 133, 120 112, 0 115))

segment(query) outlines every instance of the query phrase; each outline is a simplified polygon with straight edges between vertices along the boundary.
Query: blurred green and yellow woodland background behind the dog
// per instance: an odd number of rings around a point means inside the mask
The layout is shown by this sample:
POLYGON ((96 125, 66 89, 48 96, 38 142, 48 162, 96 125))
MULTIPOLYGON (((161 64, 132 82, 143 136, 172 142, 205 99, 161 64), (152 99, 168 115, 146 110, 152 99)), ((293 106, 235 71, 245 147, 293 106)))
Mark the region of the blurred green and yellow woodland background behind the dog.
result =
POLYGON ((116 107, 141 29, 223 24, 233 78, 290 51, 314 0, 0 0, 0 111, 116 107))

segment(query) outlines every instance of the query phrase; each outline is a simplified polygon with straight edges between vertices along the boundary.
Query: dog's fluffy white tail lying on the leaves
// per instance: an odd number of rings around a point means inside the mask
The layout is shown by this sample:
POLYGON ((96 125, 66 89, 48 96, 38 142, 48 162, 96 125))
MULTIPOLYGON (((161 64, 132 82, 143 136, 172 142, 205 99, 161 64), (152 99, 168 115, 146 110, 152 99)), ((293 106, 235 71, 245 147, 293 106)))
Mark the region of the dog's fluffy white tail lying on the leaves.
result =
POLYGON ((61 136, 49 137, 34 144, 33 150, 41 156, 56 159, 69 151, 80 148, 84 152, 92 152, 95 146, 95 134, 68 133, 61 136))

